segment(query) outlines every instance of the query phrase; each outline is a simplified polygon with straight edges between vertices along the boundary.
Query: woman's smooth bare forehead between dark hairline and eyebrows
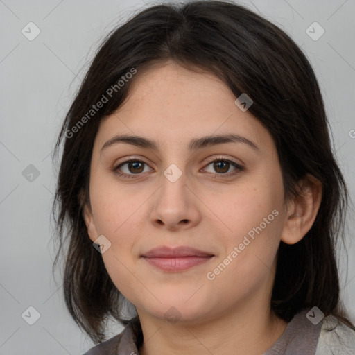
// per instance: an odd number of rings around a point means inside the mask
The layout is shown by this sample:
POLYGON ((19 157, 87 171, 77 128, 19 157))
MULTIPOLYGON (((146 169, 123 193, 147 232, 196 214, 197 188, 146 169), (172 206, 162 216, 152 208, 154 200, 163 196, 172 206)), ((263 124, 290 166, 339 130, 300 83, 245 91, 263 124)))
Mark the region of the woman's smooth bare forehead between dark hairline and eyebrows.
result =
POLYGON ((241 111, 229 87, 211 73, 196 72, 168 62, 137 74, 130 94, 114 114, 101 121, 101 146, 117 134, 140 135, 155 141, 191 141, 207 135, 234 133, 256 144, 270 144, 261 123, 241 111))

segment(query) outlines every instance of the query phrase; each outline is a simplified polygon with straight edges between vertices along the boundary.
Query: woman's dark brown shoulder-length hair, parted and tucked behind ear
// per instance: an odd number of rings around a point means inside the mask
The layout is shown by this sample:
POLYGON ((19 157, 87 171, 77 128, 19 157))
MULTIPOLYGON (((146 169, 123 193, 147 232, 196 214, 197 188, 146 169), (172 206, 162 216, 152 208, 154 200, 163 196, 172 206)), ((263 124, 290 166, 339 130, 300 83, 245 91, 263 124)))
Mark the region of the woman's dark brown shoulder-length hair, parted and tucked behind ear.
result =
POLYGON ((279 245, 271 309, 290 321, 304 307, 318 306, 324 315, 335 315, 355 329, 340 301, 336 263, 349 197, 334 159, 318 80, 291 37, 229 1, 169 3, 141 10, 111 31, 94 55, 54 150, 58 155, 64 141, 53 202, 59 242, 53 268, 63 252, 64 299, 73 319, 94 343, 105 340, 108 318, 128 323, 122 315, 122 295, 93 248, 83 218, 85 205, 91 208, 92 148, 101 119, 128 98, 139 73, 171 60, 214 74, 236 97, 246 93, 252 98, 249 112, 276 144, 285 200, 297 196, 297 183, 307 174, 322 184, 320 209, 309 232, 294 245, 279 245), (132 69, 137 74, 117 89, 118 80, 132 69), (83 120, 114 85, 107 103, 83 120), (85 124, 79 127, 80 120, 85 124))

